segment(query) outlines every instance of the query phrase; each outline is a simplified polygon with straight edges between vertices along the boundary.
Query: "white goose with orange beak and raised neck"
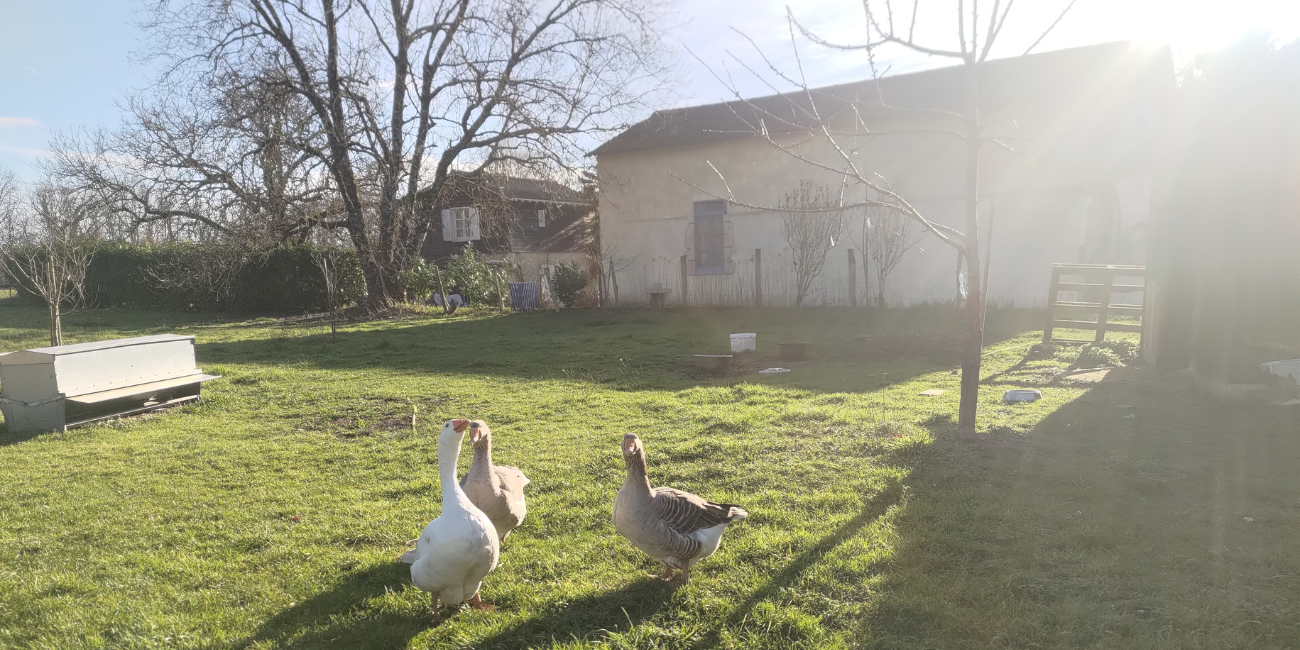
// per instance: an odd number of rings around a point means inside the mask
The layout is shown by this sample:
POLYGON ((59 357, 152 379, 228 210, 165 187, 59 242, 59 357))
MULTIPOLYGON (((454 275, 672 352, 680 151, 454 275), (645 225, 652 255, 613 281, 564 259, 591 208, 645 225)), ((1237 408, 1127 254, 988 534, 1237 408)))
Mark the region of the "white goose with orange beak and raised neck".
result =
POLYGON ((469 420, 447 420, 438 437, 438 478, 442 484, 442 514, 416 540, 413 550, 402 556, 411 563, 411 581, 429 592, 434 620, 442 618, 438 601, 458 604, 467 599, 476 610, 490 611, 478 586, 497 568, 500 542, 491 520, 476 508, 456 482, 456 459, 469 420))

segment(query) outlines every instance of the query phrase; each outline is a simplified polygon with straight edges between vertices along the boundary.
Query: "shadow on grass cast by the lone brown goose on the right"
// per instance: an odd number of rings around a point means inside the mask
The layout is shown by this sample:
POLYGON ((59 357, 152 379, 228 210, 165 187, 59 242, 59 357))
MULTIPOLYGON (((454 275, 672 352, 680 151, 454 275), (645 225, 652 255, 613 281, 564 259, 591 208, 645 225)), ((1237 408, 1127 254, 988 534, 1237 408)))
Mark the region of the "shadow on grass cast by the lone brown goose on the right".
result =
POLYGON ((538 647, 552 641, 597 641, 606 632, 640 624, 654 616, 675 588, 662 580, 637 580, 615 592, 599 592, 547 606, 541 615, 521 620, 474 642, 476 650, 538 647))

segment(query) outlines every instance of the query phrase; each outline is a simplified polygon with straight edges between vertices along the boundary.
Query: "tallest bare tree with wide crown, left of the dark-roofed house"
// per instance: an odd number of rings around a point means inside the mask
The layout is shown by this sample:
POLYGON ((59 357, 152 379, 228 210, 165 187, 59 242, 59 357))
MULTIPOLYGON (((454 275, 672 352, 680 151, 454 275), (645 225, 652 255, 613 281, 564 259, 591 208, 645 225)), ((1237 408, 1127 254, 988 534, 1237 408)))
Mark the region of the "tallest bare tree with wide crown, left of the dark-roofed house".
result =
POLYGON ((260 78, 309 107, 368 307, 402 296, 452 169, 564 166, 663 66, 649 0, 157 0, 173 78, 260 78), (276 73, 266 74, 268 66, 276 73))

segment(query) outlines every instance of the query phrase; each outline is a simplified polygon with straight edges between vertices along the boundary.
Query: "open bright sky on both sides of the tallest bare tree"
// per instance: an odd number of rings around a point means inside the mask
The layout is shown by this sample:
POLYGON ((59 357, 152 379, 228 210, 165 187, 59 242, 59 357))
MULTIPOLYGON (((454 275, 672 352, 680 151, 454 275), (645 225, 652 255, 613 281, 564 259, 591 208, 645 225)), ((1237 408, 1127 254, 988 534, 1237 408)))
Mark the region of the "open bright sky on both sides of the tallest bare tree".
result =
MULTIPOLYGON (((1065 1, 1022 0, 1004 32, 1002 53, 1023 51, 1065 1)), ((731 69, 746 95, 767 92, 728 55, 762 65, 754 48, 731 27, 753 38, 779 66, 794 72, 786 4, 828 38, 854 40, 862 32, 859 0, 681 0, 668 40, 680 52, 685 74, 671 103, 729 99, 710 70, 724 74, 731 69)), ((32 181, 38 177, 32 164, 51 133, 117 122, 117 104, 150 79, 150 70, 131 56, 147 46, 142 40, 146 35, 135 27, 143 5, 140 0, 0 0, 0 166, 32 181)), ((954 38, 950 5, 948 0, 922 3, 918 23, 928 27, 922 34, 931 42, 945 44, 944 39, 954 38)), ((1300 36, 1300 0, 1078 0, 1039 49, 1140 38, 1171 43, 1175 57, 1187 57, 1261 30, 1282 40, 1300 36)), ((868 75, 862 55, 824 51, 806 42, 800 55, 814 84, 868 75)), ((887 64, 898 73, 945 61, 894 57, 887 64)))

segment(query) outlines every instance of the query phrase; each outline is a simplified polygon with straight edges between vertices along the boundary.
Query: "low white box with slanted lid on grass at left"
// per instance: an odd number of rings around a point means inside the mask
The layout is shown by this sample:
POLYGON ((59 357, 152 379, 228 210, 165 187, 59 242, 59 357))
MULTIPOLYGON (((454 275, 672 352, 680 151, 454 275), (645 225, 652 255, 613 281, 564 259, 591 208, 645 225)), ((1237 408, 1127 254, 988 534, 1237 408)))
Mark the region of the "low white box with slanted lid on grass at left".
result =
POLYGON ((214 380, 195 367, 194 337, 159 334, 0 355, 9 430, 55 430, 199 399, 214 380))

